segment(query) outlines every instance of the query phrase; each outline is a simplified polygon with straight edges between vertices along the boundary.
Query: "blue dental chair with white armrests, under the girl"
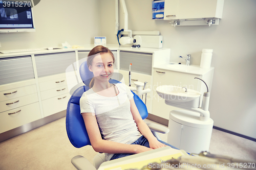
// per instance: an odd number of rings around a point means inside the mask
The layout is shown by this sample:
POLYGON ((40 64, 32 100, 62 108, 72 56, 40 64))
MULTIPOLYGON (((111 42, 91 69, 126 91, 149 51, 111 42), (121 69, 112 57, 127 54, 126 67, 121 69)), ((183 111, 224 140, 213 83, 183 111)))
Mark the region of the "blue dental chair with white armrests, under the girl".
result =
MULTIPOLYGON (((84 91, 89 90, 89 84, 93 78, 93 73, 88 69, 87 61, 83 62, 79 69, 80 77, 86 86, 78 87, 72 94, 67 107, 66 115, 66 130, 70 142, 76 148, 81 148, 86 145, 91 145, 84 120, 80 114, 79 101, 84 91)), ((110 83, 120 83, 117 80, 110 79, 110 83)), ((133 92, 133 91, 132 91, 133 92)), ((137 94, 134 94, 134 101, 139 110, 142 119, 145 119, 148 115, 147 108, 143 101, 137 94)), ((150 127, 153 134, 157 137, 156 132, 168 133, 169 129, 156 124, 147 124, 150 127)), ((94 157, 94 166, 84 157, 78 155, 72 158, 71 162, 77 169, 97 169, 102 162, 106 161, 104 154, 98 153, 94 157)))

